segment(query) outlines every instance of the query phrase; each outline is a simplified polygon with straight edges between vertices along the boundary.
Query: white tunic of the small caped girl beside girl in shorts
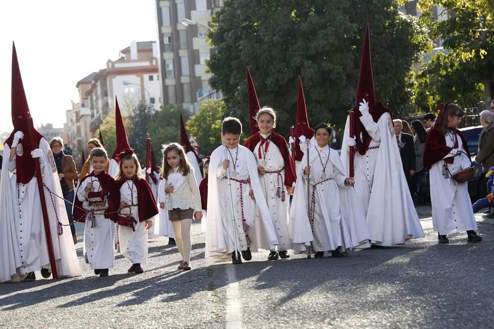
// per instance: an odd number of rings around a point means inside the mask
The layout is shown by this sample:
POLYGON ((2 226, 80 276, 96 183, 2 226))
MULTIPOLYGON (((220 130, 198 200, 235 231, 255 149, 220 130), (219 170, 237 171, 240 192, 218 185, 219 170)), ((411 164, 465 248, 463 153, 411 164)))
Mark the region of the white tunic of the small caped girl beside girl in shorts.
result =
MULTIPOLYGON (((137 187, 132 181, 126 181, 120 187, 120 201, 127 205, 137 205, 137 187)), ((139 207, 134 206, 120 210, 122 215, 132 215, 137 220, 134 223, 135 232, 132 227, 119 225, 120 252, 132 264, 145 264, 148 258, 148 230, 145 227, 146 221, 139 221, 139 207)), ((153 221, 154 217, 147 219, 153 221)))

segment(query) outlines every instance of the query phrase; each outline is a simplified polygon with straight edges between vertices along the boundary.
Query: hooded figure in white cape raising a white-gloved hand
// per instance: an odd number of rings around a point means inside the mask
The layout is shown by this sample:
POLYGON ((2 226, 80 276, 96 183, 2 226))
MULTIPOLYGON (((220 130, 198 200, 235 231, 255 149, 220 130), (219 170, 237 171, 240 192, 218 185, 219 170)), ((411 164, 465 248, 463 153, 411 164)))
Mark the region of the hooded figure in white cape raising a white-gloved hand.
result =
POLYGON ((347 174, 349 157, 355 156, 355 203, 367 209, 371 243, 379 246, 404 244, 424 236, 403 172, 400 151, 393 141, 390 111, 376 101, 371 67, 371 42, 367 24, 360 62, 355 112, 355 136, 349 136, 347 118, 341 159, 347 174), (355 154, 349 154, 355 146, 355 154))

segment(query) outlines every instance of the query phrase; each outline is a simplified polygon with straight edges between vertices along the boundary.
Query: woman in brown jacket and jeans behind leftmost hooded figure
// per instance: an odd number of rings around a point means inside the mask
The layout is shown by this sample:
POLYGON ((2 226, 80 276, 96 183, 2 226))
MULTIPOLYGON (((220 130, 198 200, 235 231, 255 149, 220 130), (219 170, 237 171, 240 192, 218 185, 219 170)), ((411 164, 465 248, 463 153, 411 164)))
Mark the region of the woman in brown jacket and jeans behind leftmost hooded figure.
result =
POLYGON ((74 202, 74 180, 78 177, 76 164, 74 163, 74 159, 72 158, 72 156, 64 154, 63 140, 60 137, 55 137, 50 141, 50 148, 53 152, 53 158, 57 166, 63 198, 66 200, 65 210, 67 211, 67 217, 69 218, 72 238, 74 240, 74 244, 77 244, 76 227, 74 226, 74 218, 72 217, 72 203, 74 202))

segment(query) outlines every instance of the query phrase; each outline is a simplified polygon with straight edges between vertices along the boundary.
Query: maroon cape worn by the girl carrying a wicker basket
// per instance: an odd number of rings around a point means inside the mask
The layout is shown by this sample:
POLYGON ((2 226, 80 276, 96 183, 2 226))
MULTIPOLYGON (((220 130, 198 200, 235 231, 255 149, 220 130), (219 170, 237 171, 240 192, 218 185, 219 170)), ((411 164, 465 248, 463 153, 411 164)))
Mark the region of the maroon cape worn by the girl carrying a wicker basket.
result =
MULTIPOLYGON (((461 132, 456 128, 453 130, 456 132, 456 135, 461 138, 461 143, 463 144, 463 148, 466 153, 470 154, 463 134, 461 134, 461 132)), ((446 146, 446 136, 444 136, 441 128, 439 126, 435 126, 429 131, 429 134, 427 134, 427 139, 425 140, 424 167, 429 169, 434 163, 441 161, 452 149, 453 147, 446 146)), ((449 157, 444 160, 448 163, 453 163, 454 161, 453 157, 449 157)))

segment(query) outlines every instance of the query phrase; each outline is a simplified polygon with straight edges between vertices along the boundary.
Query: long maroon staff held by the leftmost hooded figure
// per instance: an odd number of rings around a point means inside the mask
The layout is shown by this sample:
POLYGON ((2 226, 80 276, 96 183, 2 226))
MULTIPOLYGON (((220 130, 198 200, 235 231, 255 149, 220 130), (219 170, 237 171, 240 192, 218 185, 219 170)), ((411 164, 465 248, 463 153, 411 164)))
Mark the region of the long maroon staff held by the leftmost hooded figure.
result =
MULTIPOLYGON (((36 144, 36 138, 34 134, 34 125, 33 125, 33 118, 28 117, 28 133, 29 133, 29 140, 31 141, 31 147, 38 148, 39 146, 36 144)), ((33 148, 33 149, 35 149, 33 148)), ((26 154, 26 156, 29 156, 29 154, 26 154)), ((43 223, 44 223, 44 233, 46 234, 46 244, 48 247, 48 256, 50 258, 50 265, 51 265, 51 275, 53 279, 58 279, 58 272, 57 272, 57 265, 55 263, 55 253, 53 252, 53 242, 51 241, 51 231, 50 231, 50 222, 48 218, 48 209, 46 208, 46 203, 44 199, 44 189, 43 189, 43 179, 42 179, 42 173, 41 173, 41 167, 40 167, 40 159, 39 158, 34 158, 34 168, 36 170, 36 180, 38 183, 38 192, 40 194, 40 202, 41 202, 41 213, 43 215, 43 223)), ((57 211, 56 209, 53 209, 54 211, 57 211)), ((58 222, 57 222, 58 225, 58 222)))

